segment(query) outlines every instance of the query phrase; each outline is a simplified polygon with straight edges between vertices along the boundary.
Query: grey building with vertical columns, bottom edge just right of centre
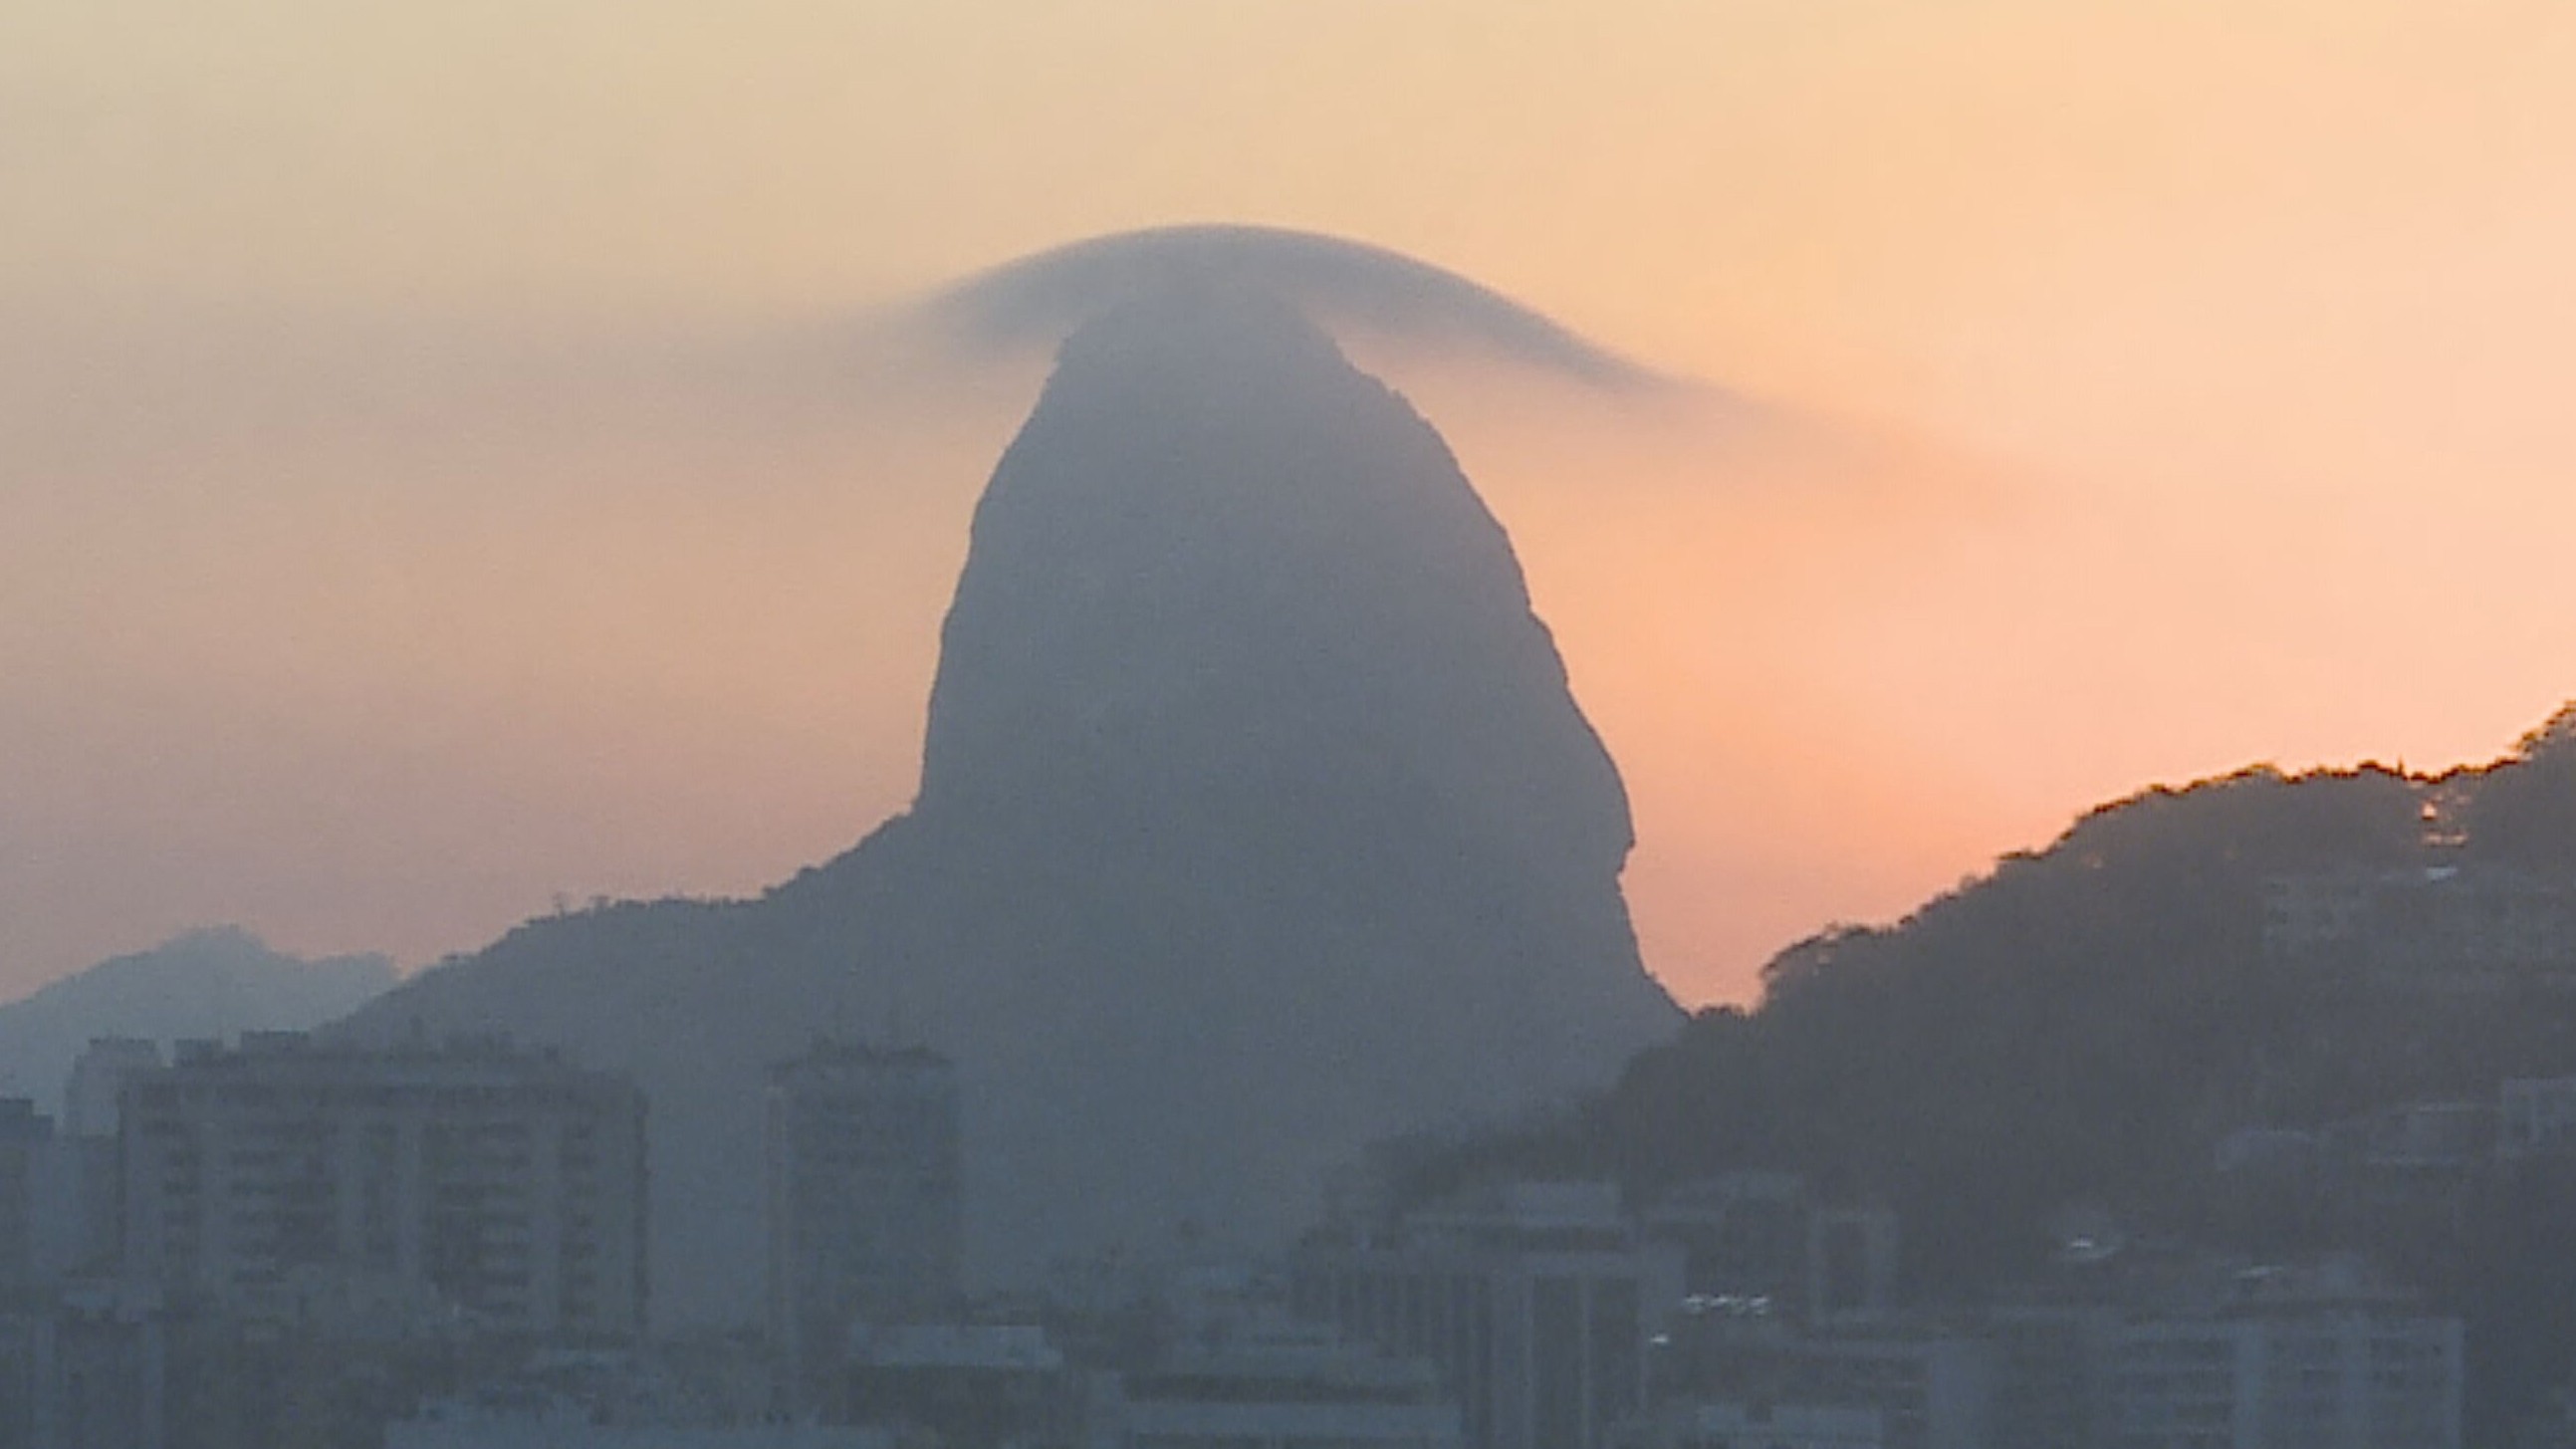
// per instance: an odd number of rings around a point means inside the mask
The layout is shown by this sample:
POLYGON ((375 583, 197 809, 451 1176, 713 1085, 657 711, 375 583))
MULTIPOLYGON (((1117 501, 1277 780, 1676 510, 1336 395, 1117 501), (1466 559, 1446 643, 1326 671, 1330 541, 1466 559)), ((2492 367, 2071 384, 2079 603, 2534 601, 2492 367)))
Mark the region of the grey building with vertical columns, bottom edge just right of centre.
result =
POLYGON ((1510 1183, 1386 1238, 1298 1248, 1291 1307, 1437 1364, 1468 1449, 1605 1449, 1646 1403, 1682 1256, 1643 1238, 1610 1183, 1510 1183))

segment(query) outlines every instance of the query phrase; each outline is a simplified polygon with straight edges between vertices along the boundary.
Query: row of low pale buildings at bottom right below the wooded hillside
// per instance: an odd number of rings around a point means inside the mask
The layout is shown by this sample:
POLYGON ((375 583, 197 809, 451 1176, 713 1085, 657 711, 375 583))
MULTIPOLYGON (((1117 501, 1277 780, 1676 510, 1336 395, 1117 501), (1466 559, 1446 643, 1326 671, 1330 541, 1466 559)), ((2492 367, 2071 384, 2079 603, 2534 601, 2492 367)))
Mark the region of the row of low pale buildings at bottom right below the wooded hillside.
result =
POLYGON ((1685 1312, 1654 1449, 2455 1449, 2463 1333, 2339 1266, 2184 1297, 1783 1325, 1685 1312))

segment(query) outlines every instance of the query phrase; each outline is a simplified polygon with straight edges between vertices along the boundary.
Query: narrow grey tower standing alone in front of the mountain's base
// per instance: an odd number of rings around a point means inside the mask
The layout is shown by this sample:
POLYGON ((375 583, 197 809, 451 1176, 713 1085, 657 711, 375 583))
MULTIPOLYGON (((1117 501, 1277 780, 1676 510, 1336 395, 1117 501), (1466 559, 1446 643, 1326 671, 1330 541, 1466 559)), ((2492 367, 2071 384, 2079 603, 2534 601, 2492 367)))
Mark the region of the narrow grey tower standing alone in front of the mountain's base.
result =
POLYGON ((799 1397, 827 1395, 855 1323, 953 1307, 961 1199, 948 1057, 817 1042, 770 1067, 770 1341, 799 1397))

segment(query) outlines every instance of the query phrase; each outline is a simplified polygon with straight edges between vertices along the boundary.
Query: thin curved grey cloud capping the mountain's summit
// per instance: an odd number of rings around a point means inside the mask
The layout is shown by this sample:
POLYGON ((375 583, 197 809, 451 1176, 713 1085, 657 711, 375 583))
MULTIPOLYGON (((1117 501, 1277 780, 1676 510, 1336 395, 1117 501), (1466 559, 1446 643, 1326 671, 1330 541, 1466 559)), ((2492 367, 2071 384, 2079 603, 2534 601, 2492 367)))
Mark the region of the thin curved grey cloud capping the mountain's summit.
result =
POLYGON ((1066 242, 940 289, 925 320, 969 348, 1054 345, 1123 302, 1198 289, 1265 291, 1324 325, 1347 322, 1607 392, 1685 387, 1453 271, 1283 227, 1151 227, 1066 242))

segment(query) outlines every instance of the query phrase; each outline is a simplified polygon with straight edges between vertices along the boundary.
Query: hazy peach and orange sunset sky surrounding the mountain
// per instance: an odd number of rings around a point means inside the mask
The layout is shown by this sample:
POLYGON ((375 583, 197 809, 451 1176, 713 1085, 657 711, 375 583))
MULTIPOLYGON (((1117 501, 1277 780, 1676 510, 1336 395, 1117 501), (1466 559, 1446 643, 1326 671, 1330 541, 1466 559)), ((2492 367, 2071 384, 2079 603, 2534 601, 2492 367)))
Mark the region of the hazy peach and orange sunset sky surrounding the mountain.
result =
POLYGON ((2151 781, 2483 758, 2576 696, 2571 75, 2563 0, 5 0, 0 987, 848 846, 1036 374, 768 343, 1164 222, 1842 423, 1388 361, 1685 1000, 2151 781))

